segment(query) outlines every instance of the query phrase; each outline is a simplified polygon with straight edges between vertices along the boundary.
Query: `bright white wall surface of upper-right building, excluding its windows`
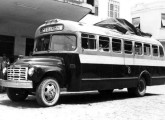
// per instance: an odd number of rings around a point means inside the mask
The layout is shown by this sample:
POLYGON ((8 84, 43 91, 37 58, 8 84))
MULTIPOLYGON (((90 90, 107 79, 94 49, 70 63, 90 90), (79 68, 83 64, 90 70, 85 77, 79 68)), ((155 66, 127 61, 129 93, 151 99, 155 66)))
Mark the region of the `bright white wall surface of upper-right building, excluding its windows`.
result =
POLYGON ((132 10, 132 18, 140 17, 141 30, 151 33, 155 39, 165 40, 165 29, 161 28, 161 13, 165 13, 165 6, 155 4, 141 4, 132 10))

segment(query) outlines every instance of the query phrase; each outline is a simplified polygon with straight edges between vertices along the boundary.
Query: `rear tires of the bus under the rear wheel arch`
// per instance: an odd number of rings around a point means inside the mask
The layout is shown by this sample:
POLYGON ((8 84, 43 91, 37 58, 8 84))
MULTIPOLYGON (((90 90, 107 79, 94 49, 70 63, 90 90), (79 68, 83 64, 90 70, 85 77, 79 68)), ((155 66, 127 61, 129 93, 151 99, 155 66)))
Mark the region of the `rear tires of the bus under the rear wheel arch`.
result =
POLYGON ((128 88, 128 93, 130 95, 135 95, 137 97, 143 97, 146 94, 146 82, 144 78, 140 78, 137 87, 128 88))

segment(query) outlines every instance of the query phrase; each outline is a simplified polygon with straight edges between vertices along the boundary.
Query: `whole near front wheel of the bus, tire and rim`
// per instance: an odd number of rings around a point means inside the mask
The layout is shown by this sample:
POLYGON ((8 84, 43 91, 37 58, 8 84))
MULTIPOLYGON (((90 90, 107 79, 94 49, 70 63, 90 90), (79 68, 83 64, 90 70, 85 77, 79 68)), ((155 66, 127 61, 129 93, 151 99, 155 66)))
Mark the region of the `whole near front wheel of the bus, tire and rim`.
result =
POLYGON ((43 107, 54 106, 60 97, 60 87, 56 79, 45 78, 36 90, 36 99, 43 107))

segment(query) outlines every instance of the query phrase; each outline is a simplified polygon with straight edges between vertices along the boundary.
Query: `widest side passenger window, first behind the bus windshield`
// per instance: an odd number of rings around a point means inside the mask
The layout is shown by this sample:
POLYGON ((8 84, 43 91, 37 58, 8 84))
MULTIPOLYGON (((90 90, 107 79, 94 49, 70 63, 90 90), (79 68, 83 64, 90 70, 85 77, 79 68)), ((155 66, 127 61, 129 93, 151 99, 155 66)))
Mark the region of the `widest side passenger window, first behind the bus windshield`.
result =
POLYGON ((96 49, 96 38, 94 35, 82 34, 81 43, 83 49, 96 49))

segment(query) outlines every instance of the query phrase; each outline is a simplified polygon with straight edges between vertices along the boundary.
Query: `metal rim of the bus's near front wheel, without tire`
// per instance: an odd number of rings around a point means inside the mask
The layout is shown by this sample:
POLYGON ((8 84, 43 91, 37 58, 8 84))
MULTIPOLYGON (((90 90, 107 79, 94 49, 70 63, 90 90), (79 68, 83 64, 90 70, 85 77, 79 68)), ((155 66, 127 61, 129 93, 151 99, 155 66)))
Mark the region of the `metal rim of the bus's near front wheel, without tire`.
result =
POLYGON ((58 100, 59 88, 54 82, 49 82, 43 89, 43 98, 47 103, 54 103, 58 100))

